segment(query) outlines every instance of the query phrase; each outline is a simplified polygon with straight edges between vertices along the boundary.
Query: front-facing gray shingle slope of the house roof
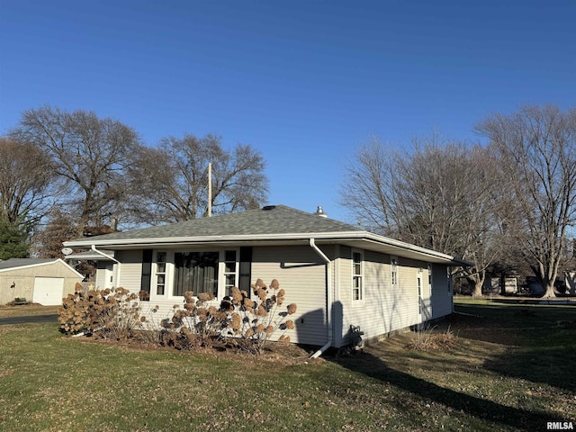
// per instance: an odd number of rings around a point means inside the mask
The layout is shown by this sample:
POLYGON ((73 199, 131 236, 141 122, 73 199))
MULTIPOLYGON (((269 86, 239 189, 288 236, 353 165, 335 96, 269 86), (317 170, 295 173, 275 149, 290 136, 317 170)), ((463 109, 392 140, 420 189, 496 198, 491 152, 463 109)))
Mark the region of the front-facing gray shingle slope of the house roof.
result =
MULTIPOLYGON (((183 238, 206 236, 258 236, 293 233, 352 232, 353 225, 323 218, 314 213, 300 211, 285 205, 267 206, 263 209, 223 214, 211 218, 115 232, 96 236, 98 240, 125 240, 138 238, 183 238)), ((78 240, 81 240, 78 238, 78 240)), ((86 240, 86 238, 83 238, 86 240)), ((74 240, 73 240, 74 241, 74 240)))

